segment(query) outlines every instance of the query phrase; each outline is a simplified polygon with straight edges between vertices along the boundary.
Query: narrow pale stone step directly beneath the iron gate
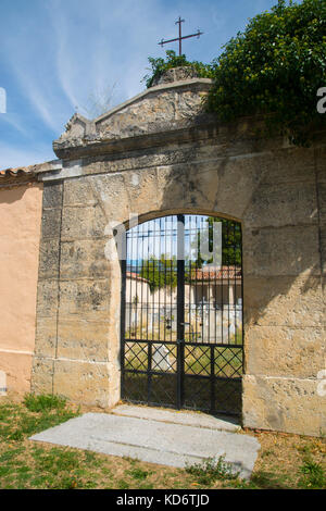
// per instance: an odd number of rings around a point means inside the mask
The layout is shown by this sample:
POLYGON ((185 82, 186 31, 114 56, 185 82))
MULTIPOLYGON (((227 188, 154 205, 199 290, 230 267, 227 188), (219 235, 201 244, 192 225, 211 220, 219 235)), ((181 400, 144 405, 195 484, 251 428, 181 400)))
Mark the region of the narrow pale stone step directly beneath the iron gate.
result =
POLYGON ((240 424, 234 417, 216 417, 201 412, 175 411, 160 408, 137 407, 133 404, 120 404, 112 410, 115 415, 134 416, 138 419, 153 420, 187 426, 205 427, 225 432, 239 432, 240 424))

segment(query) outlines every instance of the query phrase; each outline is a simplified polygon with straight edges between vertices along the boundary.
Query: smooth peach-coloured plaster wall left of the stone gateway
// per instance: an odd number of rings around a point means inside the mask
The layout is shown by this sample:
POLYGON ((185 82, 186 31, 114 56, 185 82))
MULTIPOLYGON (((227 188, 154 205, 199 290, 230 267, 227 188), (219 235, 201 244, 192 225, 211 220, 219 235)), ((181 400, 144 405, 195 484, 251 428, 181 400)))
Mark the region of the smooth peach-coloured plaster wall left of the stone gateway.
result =
POLYGON ((8 391, 30 390, 42 185, 0 187, 0 371, 8 391))

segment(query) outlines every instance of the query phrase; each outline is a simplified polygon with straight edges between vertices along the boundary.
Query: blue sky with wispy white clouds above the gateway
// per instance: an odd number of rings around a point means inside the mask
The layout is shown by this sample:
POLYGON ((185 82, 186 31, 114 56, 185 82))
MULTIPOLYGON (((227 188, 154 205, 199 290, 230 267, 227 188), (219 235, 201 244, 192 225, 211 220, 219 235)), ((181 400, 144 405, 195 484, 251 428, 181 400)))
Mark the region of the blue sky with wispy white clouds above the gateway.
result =
POLYGON ((158 41, 204 32, 184 41, 189 60, 211 62, 249 17, 276 0, 0 0, 0 169, 55 159, 52 140, 91 96, 110 108, 145 89, 148 57, 158 41), (0 109, 1 110, 1 109, 0 109))

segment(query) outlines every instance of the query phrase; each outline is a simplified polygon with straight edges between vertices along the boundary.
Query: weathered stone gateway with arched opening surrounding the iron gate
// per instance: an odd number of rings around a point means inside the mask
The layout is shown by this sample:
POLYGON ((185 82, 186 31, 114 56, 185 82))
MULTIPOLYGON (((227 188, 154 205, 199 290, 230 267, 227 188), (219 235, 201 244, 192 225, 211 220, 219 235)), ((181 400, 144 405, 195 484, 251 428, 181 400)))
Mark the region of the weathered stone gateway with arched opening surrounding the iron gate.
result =
POLYGON ((32 390, 113 407, 122 297, 114 229, 129 229, 135 214, 141 223, 218 216, 242 230, 242 424, 318 436, 326 138, 305 149, 260 137, 256 120, 222 125, 202 110, 210 86, 173 70, 93 121, 75 114, 53 142, 58 160, 33 169, 43 191, 32 390))

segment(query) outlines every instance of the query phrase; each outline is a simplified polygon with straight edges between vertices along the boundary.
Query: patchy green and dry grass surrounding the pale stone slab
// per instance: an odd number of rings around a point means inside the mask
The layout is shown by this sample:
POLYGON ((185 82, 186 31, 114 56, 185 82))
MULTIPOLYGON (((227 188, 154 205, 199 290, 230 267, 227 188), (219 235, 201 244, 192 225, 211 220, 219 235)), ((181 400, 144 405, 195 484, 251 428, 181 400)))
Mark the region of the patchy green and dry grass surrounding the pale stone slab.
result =
POLYGON ((173 469, 28 440, 83 411, 58 397, 0 399, 0 488, 326 488, 326 440, 280 433, 249 433, 262 448, 250 482, 229 474, 223 459, 173 469))

